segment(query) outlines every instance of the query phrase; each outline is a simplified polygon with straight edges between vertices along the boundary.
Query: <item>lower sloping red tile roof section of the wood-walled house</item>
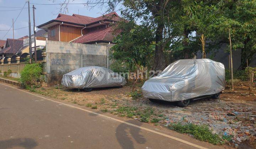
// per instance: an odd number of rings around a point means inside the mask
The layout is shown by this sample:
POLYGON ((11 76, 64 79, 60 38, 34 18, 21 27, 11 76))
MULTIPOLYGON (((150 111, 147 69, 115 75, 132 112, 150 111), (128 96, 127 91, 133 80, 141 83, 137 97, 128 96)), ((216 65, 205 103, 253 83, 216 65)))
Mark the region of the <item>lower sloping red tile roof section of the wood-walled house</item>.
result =
POLYGON ((108 27, 86 33, 78 39, 75 39, 73 43, 90 43, 97 41, 112 42, 113 39, 114 35, 112 34, 112 28, 108 27))

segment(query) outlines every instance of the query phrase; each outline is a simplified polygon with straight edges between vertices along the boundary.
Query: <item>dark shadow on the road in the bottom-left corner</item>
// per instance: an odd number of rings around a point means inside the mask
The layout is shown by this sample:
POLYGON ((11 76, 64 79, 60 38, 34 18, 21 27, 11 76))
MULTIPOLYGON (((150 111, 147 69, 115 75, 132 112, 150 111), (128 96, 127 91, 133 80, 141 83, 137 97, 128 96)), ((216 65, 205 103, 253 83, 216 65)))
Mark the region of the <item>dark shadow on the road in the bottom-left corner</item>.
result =
POLYGON ((37 142, 31 138, 17 138, 9 140, 0 140, 1 149, 9 149, 16 147, 23 147, 26 149, 32 149, 37 146, 37 142))

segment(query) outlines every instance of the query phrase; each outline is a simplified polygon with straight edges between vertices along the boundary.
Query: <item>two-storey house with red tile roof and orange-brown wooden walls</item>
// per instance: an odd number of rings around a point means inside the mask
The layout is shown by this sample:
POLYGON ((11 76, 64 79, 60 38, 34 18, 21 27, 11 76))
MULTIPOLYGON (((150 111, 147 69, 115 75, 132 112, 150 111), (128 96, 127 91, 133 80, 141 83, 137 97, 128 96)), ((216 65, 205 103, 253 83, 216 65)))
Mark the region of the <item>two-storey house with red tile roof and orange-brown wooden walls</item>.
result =
POLYGON ((111 27, 121 17, 111 12, 97 18, 59 14, 54 20, 37 26, 48 30, 48 40, 84 44, 110 44, 114 39, 111 27))

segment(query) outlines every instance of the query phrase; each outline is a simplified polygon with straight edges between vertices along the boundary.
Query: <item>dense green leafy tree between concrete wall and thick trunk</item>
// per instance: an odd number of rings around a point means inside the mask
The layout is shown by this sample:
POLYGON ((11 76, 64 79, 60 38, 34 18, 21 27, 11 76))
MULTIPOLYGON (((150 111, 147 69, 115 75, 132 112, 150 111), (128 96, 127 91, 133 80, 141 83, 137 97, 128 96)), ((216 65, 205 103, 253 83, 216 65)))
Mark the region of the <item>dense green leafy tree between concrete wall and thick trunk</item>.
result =
POLYGON ((110 57, 130 71, 151 66, 154 49, 151 31, 133 22, 122 22, 119 28, 122 32, 113 40, 116 45, 111 48, 110 57))

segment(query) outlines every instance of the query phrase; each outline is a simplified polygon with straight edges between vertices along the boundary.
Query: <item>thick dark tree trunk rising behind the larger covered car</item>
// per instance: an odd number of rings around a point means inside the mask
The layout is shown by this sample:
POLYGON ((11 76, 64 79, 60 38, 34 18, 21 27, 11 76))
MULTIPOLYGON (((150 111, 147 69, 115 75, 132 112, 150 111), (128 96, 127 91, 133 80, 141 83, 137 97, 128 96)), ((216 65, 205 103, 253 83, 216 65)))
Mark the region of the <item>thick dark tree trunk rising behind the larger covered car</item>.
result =
POLYGON ((164 24, 162 22, 159 22, 156 28, 156 35, 155 35, 155 41, 156 41, 155 61, 154 61, 155 71, 162 70, 163 68, 163 51, 164 51, 164 45, 162 43, 163 30, 164 30, 164 24))

